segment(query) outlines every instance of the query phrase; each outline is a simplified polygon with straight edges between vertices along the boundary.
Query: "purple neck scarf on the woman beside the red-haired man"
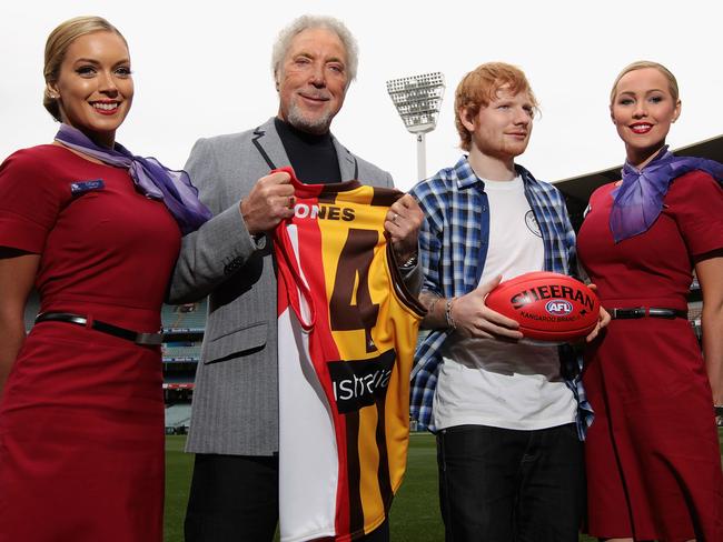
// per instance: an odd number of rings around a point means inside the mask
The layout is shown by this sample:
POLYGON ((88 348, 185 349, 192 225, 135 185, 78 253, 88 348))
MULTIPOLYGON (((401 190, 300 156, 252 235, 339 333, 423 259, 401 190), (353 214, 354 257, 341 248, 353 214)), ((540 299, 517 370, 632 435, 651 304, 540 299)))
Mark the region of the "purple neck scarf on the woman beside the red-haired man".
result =
POLYGON ((623 165, 623 183, 613 190, 610 230, 618 243, 643 233, 653 225, 663 210, 663 199, 671 182, 694 170, 701 170, 723 182, 723 165, 704 158, 675 157, 663 147, 641 171, 627 161, 623 165))

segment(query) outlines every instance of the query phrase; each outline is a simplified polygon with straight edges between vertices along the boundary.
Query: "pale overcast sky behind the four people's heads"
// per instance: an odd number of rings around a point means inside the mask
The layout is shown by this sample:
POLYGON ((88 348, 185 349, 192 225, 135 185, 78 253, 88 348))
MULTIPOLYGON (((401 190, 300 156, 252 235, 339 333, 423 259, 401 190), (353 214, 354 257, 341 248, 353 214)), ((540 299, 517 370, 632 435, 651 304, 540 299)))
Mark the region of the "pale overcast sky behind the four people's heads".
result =
POLYGON ((48 33, 79 14, 106 17, 126 36, 136 81, 133 108, 117 139, 138 154, 181 168, 200 137, 255 128, 276 114, 270 72, 279 29, 303 13, 341 19, 359 42, 357 81, 331 127, 353 152, 416 181, 416 142, 386 81, 442 71, 447 90, 427 137, 427 173, 460 151, 454 89, 476 66, 521 67, 542 106, 518 162, 559 180, 620 163, 610 86, 627 63, 655 60, 679 79, 683 113, 668 142, 723 132, 723 3, 687 1, 40 1, 0 7, 0 157, 49 142, 57 124, 41 104, 48 33))

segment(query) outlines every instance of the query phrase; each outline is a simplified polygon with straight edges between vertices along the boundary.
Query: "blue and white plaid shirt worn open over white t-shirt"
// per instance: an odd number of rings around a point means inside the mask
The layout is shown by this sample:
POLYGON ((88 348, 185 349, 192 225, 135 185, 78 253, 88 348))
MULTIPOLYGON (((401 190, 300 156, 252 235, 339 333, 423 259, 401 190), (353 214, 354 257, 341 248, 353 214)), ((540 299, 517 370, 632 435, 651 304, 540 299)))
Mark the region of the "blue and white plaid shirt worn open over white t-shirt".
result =
MULTIPOLYGON (((575 270, 575 232, 559 191, 537 181, 516 165, 525 197, 537 219, 545 251, 545 271, 572 274, 575 270)), ((489 202, 484 182, 472 171, 467 157, 412 189, 425 221, 419 232, 423 290, 442 298, 464 295, 479 285, 489 242, 489 202)), ((412 371, 410 414, 419 429, 432 425, 432 404, 442 363, 440 349, 450 330, 434 330, 419 344, 412 371)), ((581 381, 582 357, 570 345, 559 348, 565 383, 577 401, 577 432, 582 439, 593 421, 581 381)))

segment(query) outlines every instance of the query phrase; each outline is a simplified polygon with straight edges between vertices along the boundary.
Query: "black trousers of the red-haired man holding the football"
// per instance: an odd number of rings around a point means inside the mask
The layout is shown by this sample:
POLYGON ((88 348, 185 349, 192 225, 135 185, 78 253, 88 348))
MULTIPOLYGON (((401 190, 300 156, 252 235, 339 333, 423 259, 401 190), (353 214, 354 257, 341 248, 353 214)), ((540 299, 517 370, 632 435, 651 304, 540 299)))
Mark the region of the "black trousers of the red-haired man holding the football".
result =
POLYGON ((575 424, 442 430, 437 464, 446 542, 577 542, 585 510, 583 458, 575 424))

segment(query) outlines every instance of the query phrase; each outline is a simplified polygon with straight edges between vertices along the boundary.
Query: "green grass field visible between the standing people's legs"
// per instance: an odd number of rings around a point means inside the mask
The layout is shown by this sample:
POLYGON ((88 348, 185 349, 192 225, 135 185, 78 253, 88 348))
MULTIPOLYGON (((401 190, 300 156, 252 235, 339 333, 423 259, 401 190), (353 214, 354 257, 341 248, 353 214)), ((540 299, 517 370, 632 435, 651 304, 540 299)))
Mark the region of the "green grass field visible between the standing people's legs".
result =
MULTIPOLYGON (((723 431, 719 431, 722 440, 723 431)), ((166 542, 182 542, 184 514, 192 468, 192 455, 184 453, 185 436, 166 438, 166 542)), ((407 474, 392 506, 389 520, 394 542, 440 542, 444 529, 437 500, 437 461, 434 436, 412 435, 407 474)), ((593 541, 581 535, 582 541, 593 541)))

